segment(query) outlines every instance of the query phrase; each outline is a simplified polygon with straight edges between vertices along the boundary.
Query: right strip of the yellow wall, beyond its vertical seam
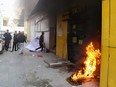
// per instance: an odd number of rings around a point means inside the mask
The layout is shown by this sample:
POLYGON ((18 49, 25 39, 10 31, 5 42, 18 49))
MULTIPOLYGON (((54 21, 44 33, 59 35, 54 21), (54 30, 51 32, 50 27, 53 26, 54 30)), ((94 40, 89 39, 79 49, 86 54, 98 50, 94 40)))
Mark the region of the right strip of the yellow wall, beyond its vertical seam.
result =
POLYGON ((108 86, 116 87, 116 0, 110 1, 110 58, 108 86))

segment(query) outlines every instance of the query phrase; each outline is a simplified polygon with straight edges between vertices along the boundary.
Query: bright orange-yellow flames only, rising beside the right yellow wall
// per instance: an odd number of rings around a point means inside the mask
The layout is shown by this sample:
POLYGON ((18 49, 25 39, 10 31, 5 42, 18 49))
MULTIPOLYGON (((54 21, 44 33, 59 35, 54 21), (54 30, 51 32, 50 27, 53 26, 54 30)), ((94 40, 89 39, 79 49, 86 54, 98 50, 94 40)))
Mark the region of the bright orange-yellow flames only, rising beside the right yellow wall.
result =
POLYGON ((93 78, 94 72, 96 71, 97 58, 100 58, 100 51, 95 50, 92 42, 86 47, 86 60, 84 62, 85 67, 82 70, 79 70, 77 73, 74 73, 71 77, 72 81, 77 82, 80 79, 93 78), (82 71, 84 71, 82 73, 82 71))

